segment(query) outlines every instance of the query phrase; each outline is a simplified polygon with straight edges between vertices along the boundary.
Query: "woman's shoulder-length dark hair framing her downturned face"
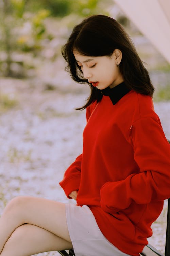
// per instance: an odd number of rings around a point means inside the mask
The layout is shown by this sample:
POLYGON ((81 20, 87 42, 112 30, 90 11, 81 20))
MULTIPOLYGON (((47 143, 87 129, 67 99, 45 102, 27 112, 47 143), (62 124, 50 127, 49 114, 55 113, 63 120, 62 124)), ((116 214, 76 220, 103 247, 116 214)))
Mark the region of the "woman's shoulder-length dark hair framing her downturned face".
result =
MULTIPOLYGON (((67 43, 62 47, 62 55, 68 63, 65 68, 78 83, 88 83, 75 60, 73 50, 85 56, 111 56, 115 49, 122 52, 119 68, 126 86, 141 94, 153 96, 154 87, 148 71, 139 58, 132 40, 122 26, 113 18, 93 15, 74 27, 67 43)), ((78 109, 85 109, 92 102, 102 99, 100 90, 88 83, 91 94, 87 103, 78 109)))

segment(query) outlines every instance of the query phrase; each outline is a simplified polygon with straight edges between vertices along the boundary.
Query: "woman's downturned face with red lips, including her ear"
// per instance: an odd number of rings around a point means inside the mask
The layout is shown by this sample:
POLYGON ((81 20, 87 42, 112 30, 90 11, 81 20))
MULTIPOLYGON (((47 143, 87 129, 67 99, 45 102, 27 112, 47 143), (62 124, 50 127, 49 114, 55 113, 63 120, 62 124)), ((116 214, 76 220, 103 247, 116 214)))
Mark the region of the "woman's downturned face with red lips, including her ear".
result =
MULTIPOLYGON (((116 50, 115 50, 116 51, 116 50)), ((121 59, 118 53, 113 52, 111 56, 91 57, 74 52, 78 66, 81 67, 84 78, 98 89, 111 88, 124 81, 119 66, 121 59)), ((118 50, 119 51, 119 50, 118 50)))

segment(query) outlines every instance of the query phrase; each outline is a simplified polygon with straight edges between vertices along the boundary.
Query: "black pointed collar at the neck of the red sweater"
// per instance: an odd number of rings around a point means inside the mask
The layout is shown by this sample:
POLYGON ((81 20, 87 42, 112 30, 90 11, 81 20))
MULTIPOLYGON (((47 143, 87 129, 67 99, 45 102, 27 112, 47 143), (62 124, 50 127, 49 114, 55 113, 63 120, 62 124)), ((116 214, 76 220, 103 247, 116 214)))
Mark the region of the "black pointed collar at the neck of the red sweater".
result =
POLYGON ((124 82, 122 82, 113 88, 108 86, 107 88, 100 91, 103 95, 109 96, 113 105, 115 105, 124 95, 129 93, 130 89, 126 87, 124 82))

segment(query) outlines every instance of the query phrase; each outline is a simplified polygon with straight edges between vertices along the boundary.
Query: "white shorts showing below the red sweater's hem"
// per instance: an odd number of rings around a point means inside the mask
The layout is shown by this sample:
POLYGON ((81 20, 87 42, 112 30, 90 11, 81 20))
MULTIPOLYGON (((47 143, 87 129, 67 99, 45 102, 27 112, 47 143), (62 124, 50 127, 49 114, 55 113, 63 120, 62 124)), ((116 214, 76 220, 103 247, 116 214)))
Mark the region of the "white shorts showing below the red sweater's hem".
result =
POLYGON ((66 204, 68 231, 76 256, 127 256, 100 231, 87 205, 66 204))

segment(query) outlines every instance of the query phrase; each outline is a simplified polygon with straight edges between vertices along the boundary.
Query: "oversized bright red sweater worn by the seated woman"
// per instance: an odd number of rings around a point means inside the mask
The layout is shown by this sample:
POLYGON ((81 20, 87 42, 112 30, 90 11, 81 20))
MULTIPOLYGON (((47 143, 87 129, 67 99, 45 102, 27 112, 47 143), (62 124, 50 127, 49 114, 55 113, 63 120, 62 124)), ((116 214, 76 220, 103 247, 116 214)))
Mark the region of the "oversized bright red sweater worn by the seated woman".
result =
POLYGON ((87 108, 83 153, 60 182, 67 197, 88 205, 104 236, 139 255, 170 197, 170 145, 150 96, 130 91, 87 108))

